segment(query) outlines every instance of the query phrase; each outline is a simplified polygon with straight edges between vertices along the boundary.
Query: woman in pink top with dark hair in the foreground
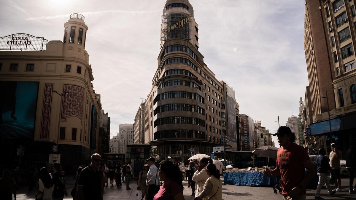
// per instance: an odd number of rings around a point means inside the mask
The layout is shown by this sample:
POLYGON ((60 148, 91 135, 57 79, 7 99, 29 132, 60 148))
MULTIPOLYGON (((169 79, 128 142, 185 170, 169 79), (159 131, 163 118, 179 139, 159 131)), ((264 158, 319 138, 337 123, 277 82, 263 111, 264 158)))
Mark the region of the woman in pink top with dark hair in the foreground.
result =
POLYGON ((178 165, 174 165, 170 160, 164 160, 159 166, 158 175, 163 185, 153 200, 184 200, 182 174, 178 165))

